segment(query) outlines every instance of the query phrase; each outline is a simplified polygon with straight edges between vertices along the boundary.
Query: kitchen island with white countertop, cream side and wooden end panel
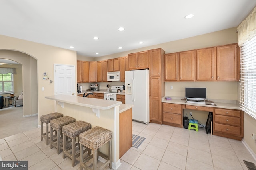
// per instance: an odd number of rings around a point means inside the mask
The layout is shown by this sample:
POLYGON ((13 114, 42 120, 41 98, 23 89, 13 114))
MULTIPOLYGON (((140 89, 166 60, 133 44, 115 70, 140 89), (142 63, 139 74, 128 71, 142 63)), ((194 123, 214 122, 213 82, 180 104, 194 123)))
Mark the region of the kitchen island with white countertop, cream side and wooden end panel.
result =
MULTIPOLYGON (((64 116, 74 117, 76 121, 86 121, 91 123, 92 127, 100 126, 112 131, 112 168, 117 169, 120 166, 120 149, 124 147, 129 149, 132 145, 133 105, 122 104, 122 102, 118 101, 81 98, 63 94, 46 96, 45 98, 55 100, 55 111, 62 113, 64 116), (120 127, 121 131, 128 129, 129 133, 120 133, 120 127), (126 141, 126 143, 122 141, 126 141), (127 141, 130 142, 127 143, 127 141)), ((107 146, 101 147, 100 151, 107 154, 107 146)), ((122 152, 126 151, 122 150, 122 152)))

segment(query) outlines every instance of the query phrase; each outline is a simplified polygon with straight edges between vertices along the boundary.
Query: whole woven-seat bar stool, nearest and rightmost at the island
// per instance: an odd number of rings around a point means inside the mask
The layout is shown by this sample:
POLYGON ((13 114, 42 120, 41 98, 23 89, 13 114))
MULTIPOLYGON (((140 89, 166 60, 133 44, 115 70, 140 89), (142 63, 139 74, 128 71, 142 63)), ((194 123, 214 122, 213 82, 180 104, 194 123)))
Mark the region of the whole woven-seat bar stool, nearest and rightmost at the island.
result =
POLYGON ((107 161, 100 166, 100 170, 103 170, 108 164, 110 169, 112 168, 112 131, 108 129, 104 129, 102 127, 94 127, 85 131, 79 135, 79 143, 80 143, 80 170, 83 168, 87 170, 96 170, 97 169, 97 159, 98 156, 106 159, 107 161), (102 147, 105 143, 108 143, 108 156, 99 152, 99 148, 102 147), (83 147, 89 148, 92 150, 92 155, 88 155, 87 157, 83 156, 83 147), (86 165, 92 158, 93 169, 86 165))

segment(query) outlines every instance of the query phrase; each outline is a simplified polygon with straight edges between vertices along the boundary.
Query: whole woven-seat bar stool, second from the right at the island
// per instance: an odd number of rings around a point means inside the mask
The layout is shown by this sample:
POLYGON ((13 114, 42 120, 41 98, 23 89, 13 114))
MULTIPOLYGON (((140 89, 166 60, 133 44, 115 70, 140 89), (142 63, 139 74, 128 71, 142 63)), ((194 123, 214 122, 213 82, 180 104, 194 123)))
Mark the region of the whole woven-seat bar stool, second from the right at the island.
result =
MULTIPOLYGON (((62 134, 63 134, 63 159, 68 156, 70 159, 72 159, 72 166, 75 166, 76 158, 79 157, 80 153, 76 154, 76 146, 79 145, 79 143, 76 143, 76 137, 79 136, 80 133, 83 133, 84 131, 87 131, 88 129, 91 129, 91 124, 87 123, 85 121, 76 121, 74 123, 70 123, 68 125, 65 125, 62 127, 62 134), (69 148, 66 148, 66 137, 70 138, 72 140, 72 146, 69 148), (68 152, 68 150, 71 150, 71 153, 68 152)), ((89 149, 85 149, 84 153, 89 151, 89 149)))

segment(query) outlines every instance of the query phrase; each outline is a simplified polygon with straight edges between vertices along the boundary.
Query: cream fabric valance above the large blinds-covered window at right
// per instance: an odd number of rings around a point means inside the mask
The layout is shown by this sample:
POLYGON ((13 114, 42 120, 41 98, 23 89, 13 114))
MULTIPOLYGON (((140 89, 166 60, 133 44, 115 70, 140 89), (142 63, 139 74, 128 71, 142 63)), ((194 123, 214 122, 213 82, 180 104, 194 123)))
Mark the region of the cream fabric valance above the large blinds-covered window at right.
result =
POLYGON ((256 7, 237 28, 238 45, 241 46, 246 41, 249 41, 256 35, 256 7))

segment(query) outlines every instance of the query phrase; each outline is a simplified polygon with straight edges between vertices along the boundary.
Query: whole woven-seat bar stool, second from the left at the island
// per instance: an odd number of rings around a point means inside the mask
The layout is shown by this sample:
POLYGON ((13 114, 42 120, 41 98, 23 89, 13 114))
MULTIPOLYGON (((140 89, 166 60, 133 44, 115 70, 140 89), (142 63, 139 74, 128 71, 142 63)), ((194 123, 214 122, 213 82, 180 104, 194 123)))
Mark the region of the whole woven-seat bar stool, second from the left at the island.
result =
POLYGON ((53 146, 56 147, 58 154, 60 154, 60 147, 62 147, 62 145, 60 144, 60 135, 62 135, 62 127, 64 125, 68 125, 69 123, 73 123, 75 121, 76 121, 76 119, 74 119, 73 117, 69 117, 69 116, 59 117, 57 119, 53 119, 50 121, 50 127, 51 127, 50 148, 52 149, 53 146), (57 139, 54 139, 53 130, 56 130, 56 132, 57 132, 57 139))

